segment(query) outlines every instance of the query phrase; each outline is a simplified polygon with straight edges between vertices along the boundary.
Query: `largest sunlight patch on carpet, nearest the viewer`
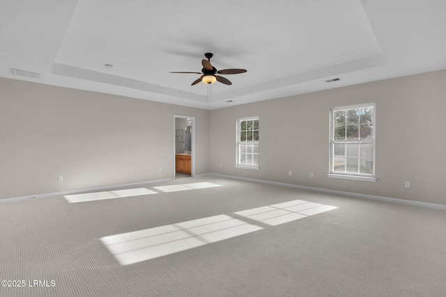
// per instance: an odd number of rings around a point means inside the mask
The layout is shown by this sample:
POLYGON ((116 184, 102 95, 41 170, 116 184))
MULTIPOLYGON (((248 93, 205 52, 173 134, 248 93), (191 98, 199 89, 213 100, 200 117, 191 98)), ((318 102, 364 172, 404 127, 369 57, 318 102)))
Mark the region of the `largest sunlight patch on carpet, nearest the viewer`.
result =
POLYGON ((220 215, 101 238, 122 265, 155 259, 263 229, 220 215))

